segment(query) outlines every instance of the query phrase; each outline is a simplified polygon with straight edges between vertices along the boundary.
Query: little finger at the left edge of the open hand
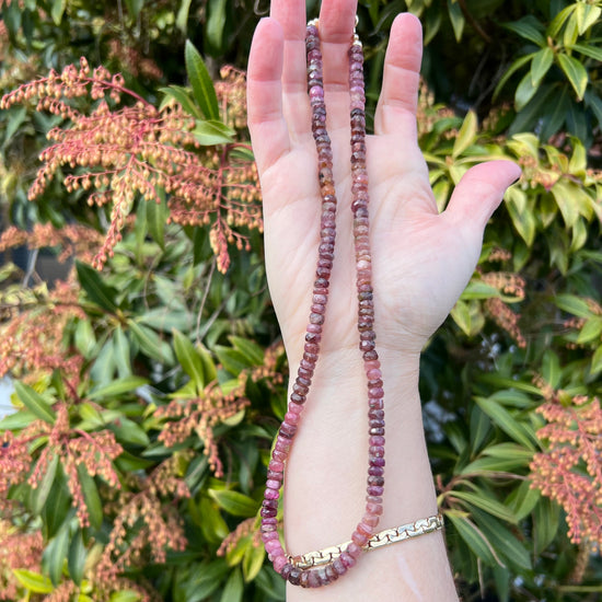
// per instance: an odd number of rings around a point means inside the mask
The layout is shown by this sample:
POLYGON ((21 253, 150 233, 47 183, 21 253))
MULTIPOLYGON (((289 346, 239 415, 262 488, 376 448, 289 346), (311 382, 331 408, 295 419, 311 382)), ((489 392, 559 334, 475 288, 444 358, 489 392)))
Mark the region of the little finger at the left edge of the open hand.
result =
POLYGON ((262 19, 251 45, 247 72, 248 129, 259 174, 290 150, 282 115, 282 28, 262 19))

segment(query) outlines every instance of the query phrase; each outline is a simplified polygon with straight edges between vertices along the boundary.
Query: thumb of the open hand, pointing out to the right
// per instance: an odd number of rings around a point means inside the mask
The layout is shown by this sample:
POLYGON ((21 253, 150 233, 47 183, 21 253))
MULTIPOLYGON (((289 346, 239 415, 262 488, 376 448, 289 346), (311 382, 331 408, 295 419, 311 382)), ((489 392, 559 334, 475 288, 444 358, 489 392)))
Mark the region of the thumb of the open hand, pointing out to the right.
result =
POLYGON ((458 183, 444 218, 455 228, 482 239, 485 225, 501 202, 506 188, 520 174, 520 167, 512 161, 488 161, 471 167, 458 183))

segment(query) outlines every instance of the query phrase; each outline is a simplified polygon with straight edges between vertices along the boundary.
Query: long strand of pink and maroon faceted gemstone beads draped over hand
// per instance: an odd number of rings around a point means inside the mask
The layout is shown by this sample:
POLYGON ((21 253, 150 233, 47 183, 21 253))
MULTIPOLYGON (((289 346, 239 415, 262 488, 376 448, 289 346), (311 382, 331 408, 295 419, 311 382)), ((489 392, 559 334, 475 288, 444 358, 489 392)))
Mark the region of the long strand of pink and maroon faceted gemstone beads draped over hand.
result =
POLYGON ((363 53, 356 34, 349 48, 349 94, 351 121, 351 211, 356 252, 356 282, 358 291, 359 348, 368 380, 369 467, 366 511, 356 526, 351 541, 337 546, 320 562, 288 556, 278 535, 278 499, 282 486, 285 465, 297 432, 311 380, 320 354, 322 327, 328 301, 328 287, 333 267, 336 207, 333 178, 333 150, 326 131, 323 62, 317 21, 308 24, 305 32, 308 57, 308 91, 312 108, 312 132, 317 150, 319 182, 322 197, 320 245, 313 286, 310 320, 305 329, 305 344, 288 412, 280 425, 271 460, 268 465, 266 490, 262 505, 262 540, 274 568, 296 586, 316 588, 328 584, 352 567, 369 544, 382 514, 384 487, 384 405, 383 383, 379 356, 375 349, 374 302, 372 294, 372 259, 369 243, 368 171, 366 169, 366 94, 363 83, 363 53))

